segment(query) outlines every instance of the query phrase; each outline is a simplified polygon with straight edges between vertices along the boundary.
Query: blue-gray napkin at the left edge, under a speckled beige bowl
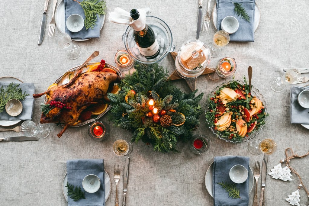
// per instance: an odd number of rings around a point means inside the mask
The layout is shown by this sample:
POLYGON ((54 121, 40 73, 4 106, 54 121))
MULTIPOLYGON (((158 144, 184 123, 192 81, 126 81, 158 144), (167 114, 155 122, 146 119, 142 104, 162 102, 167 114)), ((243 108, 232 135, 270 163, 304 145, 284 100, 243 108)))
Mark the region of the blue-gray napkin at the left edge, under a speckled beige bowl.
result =
MULTIPOLYGON (((0 87, 6 87, 10 83, 8 82, 0 82, 0 87)), ((29 96, 26 96, 24 100, 20 100, 20 102, 23 105, 23 111, 13 117, 10 116, 6 113, 6 111, 2 111, 0 113, 0 120, 31 120, 32 119, 32 111, 33 111, 33 103, 34 103, 34 98, 32 95, 34 94, 34 84, 33 83, 19 83, 19 87, 25 91, 29 96)))

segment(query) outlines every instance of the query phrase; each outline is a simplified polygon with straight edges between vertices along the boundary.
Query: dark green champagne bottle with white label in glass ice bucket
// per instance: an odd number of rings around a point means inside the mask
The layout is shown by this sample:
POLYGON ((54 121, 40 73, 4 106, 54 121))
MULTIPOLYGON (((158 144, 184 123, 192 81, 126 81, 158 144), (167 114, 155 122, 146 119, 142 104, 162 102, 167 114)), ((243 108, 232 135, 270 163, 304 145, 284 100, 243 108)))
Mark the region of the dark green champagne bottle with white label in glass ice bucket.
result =
MULTIPOLYGON (((132 9, 130 16, 133 20, 139 18, 139 12, 136 9, 132 9)), ((142 56, 146 59, 153 59, 160 53, 160 46, 155 37, 155 32, 145 23, 145 28, 141 31, 134 30, 134 40, 138 45, 138 50, 142 56)))

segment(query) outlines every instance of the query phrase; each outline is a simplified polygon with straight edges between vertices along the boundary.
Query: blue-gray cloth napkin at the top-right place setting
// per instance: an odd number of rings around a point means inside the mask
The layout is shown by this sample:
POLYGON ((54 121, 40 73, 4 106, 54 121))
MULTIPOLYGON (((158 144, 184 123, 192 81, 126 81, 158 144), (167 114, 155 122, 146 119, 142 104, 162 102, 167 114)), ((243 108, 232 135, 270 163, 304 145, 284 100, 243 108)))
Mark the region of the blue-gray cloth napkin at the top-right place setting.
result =
POLYGON ((234 34, 230 34, 230 41, 254 41, 254 8, 255 0, 216 0, 218 14, 218 31, 221 29, 221 21, 226 16, 234 16, 238 22, 238 30, 234 34), (250 22, 246 21, 239 15, 237 17, 234 11, 234 3, 240 3, 247 11, 250 22))

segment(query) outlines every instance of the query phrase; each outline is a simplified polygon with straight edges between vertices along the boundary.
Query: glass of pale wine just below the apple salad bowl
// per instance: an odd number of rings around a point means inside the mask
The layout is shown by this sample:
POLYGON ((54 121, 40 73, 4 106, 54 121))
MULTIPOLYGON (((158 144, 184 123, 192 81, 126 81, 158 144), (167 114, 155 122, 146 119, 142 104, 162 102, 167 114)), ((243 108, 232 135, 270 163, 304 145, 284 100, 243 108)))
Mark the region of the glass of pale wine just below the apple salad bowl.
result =
POLYGON ((253 139, 248 144, 248 150, 251 154, 273 154, 277 149, 277 144, 273 139, 253 139))

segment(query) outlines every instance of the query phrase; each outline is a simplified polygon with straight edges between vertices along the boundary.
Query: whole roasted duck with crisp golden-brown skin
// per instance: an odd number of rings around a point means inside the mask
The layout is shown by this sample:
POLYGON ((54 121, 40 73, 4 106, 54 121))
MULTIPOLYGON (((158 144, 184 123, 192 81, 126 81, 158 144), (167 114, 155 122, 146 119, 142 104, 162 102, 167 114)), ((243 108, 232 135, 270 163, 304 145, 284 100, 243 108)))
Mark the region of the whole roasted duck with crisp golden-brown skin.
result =
POLYGON ((120 80, 117 74, 110 72, 81 72, 79 70, 65 85, 54 86, 41 94, 33 95, 34 98, 49 95, 49 100, 44 105, 49 109, 42 113, 40 123, 64 123, 58 137, 78 120, 84 109, 91 104, 102 103, 109 84, 120 80))

